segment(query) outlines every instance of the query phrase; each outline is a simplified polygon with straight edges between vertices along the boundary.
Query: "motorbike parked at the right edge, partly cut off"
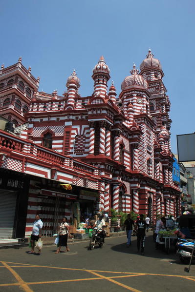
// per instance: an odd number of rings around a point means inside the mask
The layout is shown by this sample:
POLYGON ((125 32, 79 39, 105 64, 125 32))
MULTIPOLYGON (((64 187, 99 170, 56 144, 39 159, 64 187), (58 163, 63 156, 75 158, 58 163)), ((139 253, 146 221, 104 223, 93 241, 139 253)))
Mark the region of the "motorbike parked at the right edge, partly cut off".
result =
POLYGON ((179 254, 180 261, 182 263, 186 263, 190 261, 190 258, 192 256, 192 259, 195 259, 195 250, 194 248, 195 241, 192 239, 181 239, 178 238, 178 241, 176 243, 176 250, 179 254), (194 251, 193 255, 192 252, 194 251))

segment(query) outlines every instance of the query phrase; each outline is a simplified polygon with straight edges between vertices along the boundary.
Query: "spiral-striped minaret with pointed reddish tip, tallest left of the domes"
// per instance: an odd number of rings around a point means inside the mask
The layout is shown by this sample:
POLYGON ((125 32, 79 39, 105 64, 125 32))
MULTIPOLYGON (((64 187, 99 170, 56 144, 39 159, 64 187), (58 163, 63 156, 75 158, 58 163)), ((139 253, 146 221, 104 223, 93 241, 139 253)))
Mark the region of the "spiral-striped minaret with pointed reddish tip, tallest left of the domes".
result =
POLYGON ((93 96, 105 97, 107 95, 109 68, 102 56, 97 65, 93 68, 92 78, 94 80, 93 96))

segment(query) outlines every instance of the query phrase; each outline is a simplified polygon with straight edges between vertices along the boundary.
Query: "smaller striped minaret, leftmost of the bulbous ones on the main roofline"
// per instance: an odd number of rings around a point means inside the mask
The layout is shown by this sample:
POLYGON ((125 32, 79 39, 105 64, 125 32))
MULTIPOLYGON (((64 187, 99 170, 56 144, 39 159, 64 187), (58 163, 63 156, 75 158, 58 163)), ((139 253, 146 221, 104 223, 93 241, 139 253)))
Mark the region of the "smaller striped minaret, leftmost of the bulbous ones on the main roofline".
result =
POLYGON ((67 104, 74 105, 74 99, 76 93, 78 94, 78 89, 80 87, 80 79, 77 77, 76 71, 73 70, 71 76, 68 77, 66 82, 68 101, 67 104))

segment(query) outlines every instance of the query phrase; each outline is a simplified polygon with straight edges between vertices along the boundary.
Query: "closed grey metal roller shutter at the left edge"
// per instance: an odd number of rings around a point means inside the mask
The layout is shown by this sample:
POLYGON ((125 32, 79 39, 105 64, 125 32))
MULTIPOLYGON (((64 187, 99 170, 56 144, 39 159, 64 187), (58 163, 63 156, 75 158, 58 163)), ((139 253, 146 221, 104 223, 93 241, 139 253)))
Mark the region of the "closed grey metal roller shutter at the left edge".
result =
POLYGON ((0 239, 12 238, 17 193, 0 190, 0 239))

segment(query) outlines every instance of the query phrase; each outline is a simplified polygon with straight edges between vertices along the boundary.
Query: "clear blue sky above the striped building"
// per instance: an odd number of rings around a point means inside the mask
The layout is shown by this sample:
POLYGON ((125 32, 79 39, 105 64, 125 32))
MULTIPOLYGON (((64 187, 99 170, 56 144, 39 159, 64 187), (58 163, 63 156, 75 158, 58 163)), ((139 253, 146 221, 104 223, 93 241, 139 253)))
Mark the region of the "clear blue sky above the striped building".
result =
POLYGON ((176 135, 195 132, 195 1, 186 0, 1 0, 0 63, 22 56, 41 77, 40 88, 62 95, 76 69, 79 93, 93 92, 92 69, 101 55, 119 95, 123 79, 148 48, 162 64, 176 135))

